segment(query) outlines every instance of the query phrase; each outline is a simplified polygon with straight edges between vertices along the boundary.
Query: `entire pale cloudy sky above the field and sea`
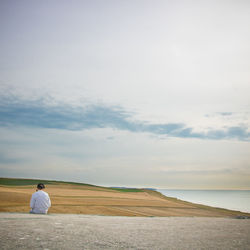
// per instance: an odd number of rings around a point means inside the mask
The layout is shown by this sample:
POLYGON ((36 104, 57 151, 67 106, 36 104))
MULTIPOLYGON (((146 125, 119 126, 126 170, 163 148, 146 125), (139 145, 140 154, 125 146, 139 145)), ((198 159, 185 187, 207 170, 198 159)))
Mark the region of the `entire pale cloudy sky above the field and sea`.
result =
POLYGON ((248 0, 1 0, 0 176, 250 189, 248 0))

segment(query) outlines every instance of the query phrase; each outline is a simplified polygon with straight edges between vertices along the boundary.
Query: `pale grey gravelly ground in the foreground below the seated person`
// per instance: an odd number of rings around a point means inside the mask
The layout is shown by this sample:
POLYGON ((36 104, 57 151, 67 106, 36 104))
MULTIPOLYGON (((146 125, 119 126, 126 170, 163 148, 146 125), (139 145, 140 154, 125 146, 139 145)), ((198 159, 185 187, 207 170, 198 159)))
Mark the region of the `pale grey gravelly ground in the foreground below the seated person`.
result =
POLYGON ((0 213, 0 249, 250 249, 250 220, 0 213))

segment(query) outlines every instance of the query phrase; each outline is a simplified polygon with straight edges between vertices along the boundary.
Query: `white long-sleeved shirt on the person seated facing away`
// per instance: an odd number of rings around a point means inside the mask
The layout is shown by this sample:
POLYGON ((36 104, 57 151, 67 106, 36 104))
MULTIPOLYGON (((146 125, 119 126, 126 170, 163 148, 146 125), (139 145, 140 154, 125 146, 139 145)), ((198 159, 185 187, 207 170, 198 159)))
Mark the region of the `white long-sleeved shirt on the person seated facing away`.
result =
POLYGON ((32 194, 30 200, 31 213, 47 214, 50 206, 51 206, 50 198, 46 192, 38 190, 37 192, 32 194))

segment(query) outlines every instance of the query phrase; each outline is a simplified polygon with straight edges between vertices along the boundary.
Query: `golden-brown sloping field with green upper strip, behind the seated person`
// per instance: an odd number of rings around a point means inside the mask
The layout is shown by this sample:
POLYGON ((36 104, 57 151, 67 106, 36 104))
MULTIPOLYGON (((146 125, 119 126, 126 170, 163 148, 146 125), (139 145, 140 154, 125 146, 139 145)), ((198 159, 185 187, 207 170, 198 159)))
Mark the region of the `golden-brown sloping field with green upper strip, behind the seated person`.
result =
POLYGON ((106 188, 82 183, 0 178, 0 212, 29 212, 37 183, 46 185, 52 207, 49 213, 116 216, 249 216, 169 198, 148 189, 106 188))

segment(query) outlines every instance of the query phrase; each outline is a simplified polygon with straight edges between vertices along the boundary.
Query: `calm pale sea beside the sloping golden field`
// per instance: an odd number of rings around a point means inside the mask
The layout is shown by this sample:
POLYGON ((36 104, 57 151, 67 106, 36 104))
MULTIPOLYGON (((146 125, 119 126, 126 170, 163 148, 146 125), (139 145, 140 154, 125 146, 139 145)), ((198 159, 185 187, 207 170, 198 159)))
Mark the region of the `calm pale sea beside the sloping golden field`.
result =
POLYGON ((157 189, 180 200, 250 213, 250 190, 173 190, 157 189))

